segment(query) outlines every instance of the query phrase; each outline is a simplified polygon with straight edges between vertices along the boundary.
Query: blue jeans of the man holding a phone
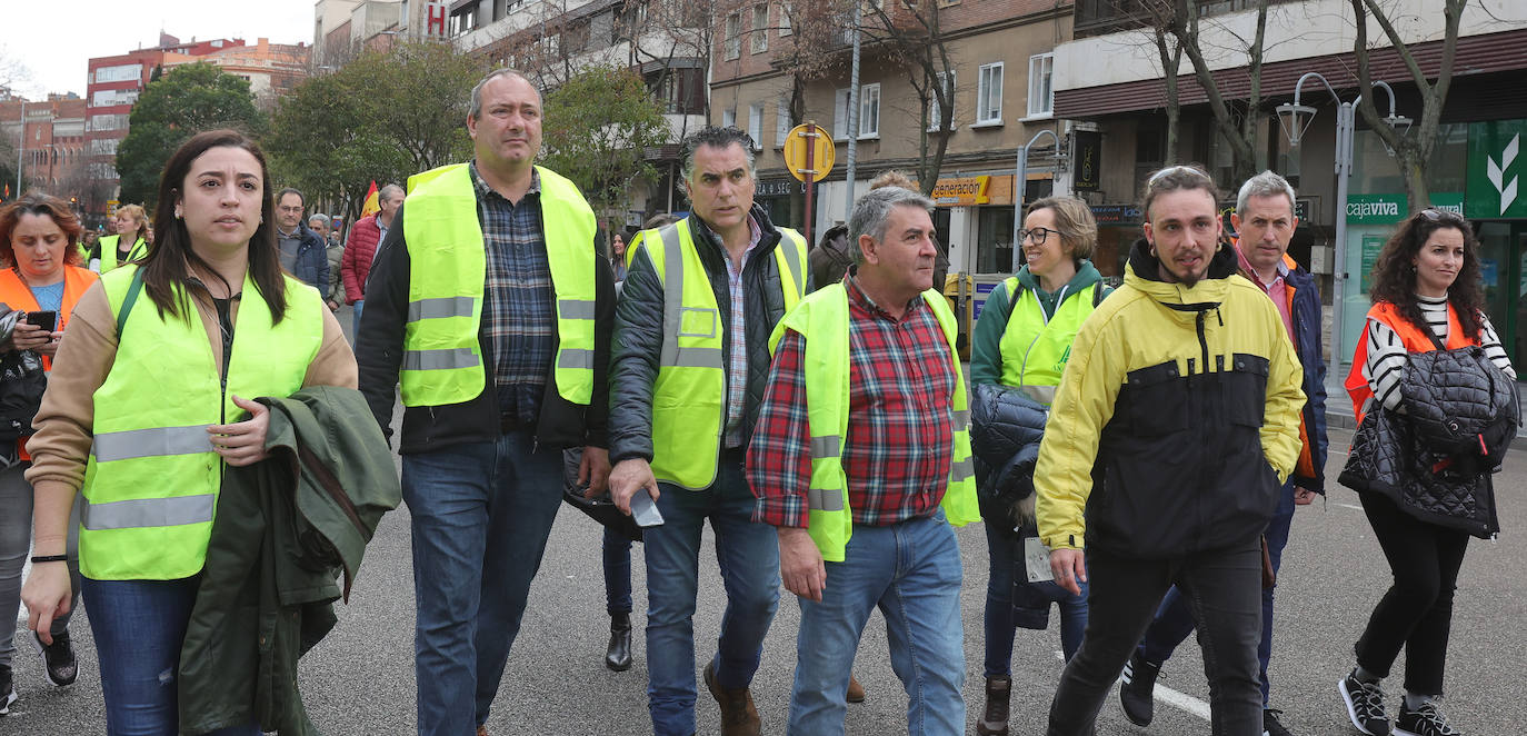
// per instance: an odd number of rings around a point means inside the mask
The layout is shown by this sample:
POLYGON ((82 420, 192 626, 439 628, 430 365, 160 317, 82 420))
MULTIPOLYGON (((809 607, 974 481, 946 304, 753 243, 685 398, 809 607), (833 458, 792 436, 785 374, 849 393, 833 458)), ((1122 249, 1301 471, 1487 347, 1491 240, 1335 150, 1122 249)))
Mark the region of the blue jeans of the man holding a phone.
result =
POLYGON ((724 689, 748 687, 764 635, 779 608, 779 541, 753 522, 756 499, 742 475, 742 452, 721 454, 705 490, 658 486, 663 525, 643 531, 647 560, 647 710, 657 736, 695 733, 695 592, 699 534, 710 519, 716 565, 727 591, 712 664, 724 689))

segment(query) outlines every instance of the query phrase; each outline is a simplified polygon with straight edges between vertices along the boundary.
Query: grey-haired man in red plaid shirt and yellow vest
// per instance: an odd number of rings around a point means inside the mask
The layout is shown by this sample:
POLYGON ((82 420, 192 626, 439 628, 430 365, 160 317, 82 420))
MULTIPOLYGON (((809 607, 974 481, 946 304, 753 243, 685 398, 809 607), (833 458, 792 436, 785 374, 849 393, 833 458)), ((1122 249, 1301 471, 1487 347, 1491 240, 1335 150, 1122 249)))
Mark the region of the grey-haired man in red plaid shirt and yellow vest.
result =
POLYGON ((748 481, 800 602, 791 734, 843 733, 849 666, 875 608, 907 689, 907 731, 965 733, 951 527, 980 513, 956 319, 933 290, 930 209, 896 186, 861 197, 849 218, 855 264, 771 337, 748 481))

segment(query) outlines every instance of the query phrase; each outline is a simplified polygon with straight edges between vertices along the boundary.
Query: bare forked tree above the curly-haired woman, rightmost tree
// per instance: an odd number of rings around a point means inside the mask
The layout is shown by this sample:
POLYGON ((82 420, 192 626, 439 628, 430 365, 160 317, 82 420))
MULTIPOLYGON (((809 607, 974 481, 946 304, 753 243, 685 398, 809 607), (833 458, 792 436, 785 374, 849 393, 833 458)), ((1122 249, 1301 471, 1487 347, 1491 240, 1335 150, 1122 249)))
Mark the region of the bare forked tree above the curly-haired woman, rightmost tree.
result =
POLYGON ((1358 35, 1353 41, 1353 53, 1358 58, 1358 84, 1362 90, 1362 101, 1358 110, 1364 122, 1383 140, 1383 145, 1394 151, 1394 159, 1405 177, 1405 192, 1411 211, 1431 206, 1431 192, 1426 188, 1426 169, 1431 165, 1432 150, 1437 147, 1437 128, 1441 125, 1441 108, 1448 101, 1448 89, 1452 87, 1452 64, 1458 52, 1458 20, 1467 0, 1443 2, 1443 38, 1441 61, 1434 79, 1426 78, 1416 55, 1394 29, 1394 23, 1376 0, 1351 0, 1353 17, 1358 35), (1422 118, 1416 136, 1403 136, 1385 121, 1373 105, 1373 61, 1368 47, 1368 17, 1383 31, 1394 52, 1400 56, 1405 69, 1411 73, 1416 92, 1422 98, 1422 118))

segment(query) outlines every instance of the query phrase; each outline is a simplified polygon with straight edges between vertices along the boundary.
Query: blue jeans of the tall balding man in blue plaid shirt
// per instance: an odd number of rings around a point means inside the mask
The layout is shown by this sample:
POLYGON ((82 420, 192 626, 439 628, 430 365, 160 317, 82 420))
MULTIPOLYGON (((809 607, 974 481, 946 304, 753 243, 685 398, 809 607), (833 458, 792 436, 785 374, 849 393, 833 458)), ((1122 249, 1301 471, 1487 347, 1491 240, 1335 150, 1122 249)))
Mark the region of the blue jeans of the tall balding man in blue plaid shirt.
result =
POLYGON ((414 534, 420 736, 487 721, 562 505, 562 454, 530 432, 403 455, 414 534))

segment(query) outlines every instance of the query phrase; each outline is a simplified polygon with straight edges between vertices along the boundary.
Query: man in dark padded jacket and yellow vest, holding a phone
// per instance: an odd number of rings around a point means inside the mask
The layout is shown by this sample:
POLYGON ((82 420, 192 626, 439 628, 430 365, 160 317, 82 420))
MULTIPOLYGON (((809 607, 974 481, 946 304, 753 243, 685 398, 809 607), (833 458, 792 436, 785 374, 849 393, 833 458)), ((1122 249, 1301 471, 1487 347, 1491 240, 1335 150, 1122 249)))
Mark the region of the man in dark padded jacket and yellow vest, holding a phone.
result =
POLYGON ((695 592, 705 519, 727 611, 705 686, 725 736, 757 734, 748 686, 774 609, 779 563, 753 524, 742 473, 774 324, 809 292, 806 240, 754 205, 753 139, 705 127, 683 145, 693 214, 641 234, 615 315, 611 495, 655 502, 646 530, 647 710, 658 736, 695 733, 695 592))

